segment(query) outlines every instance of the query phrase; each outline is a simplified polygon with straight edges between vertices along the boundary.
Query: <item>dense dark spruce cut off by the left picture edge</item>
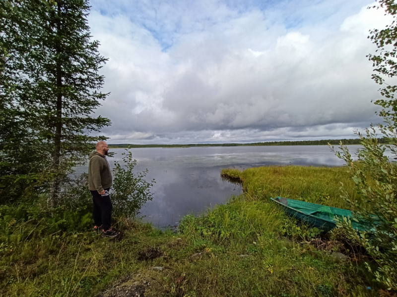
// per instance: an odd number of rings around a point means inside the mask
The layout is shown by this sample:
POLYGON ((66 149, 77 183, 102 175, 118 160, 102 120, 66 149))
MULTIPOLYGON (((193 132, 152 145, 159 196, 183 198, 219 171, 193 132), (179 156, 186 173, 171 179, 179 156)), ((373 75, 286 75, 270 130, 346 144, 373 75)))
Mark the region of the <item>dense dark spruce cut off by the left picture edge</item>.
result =
POLYGON ((25 104, 31 83, 25 59, 37 28, 27 3, 0 1, 0 201, 19 197, 43 170, 43 149, 31 124, 34 108, 25 104))

